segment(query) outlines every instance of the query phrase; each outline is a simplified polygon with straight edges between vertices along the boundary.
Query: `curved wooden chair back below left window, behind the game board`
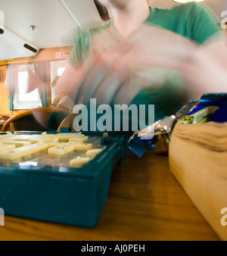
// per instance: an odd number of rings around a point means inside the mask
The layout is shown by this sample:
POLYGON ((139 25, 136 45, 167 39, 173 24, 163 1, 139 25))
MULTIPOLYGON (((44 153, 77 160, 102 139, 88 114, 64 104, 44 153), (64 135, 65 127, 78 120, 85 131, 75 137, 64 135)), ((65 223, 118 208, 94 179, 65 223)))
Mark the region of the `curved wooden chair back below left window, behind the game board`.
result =
POLYGON ((21 111, 7 120, 2 132, 8 131, 57 131, 62 121, 71 114, 61 108, 34 108, 21 111))

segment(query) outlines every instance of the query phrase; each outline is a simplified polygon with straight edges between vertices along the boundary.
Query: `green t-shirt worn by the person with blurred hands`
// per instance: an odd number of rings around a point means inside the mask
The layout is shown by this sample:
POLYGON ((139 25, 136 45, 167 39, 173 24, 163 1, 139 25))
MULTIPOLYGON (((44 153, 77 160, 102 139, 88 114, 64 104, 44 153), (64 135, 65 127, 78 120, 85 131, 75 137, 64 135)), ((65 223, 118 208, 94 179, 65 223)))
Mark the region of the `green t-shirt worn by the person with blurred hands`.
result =
MULTIPOLYGON (((170 30, 187 39, 191 39, 201 45, 210 36, 219 33, 213 18, 208 12, 195 2, 185 5, 177 5, 172 9, 152 8, 151 14, 145 21, 146 24, 156 25, 170 30)), ((88 30, 79 38, 68 59, 73 67, 79 67, 89 56, 92 37, 112 26, 112 23, 95 30, 88 30)), ((138 93, 131 104, 155 105, 155 120, 165 116, 176 114, 188 98, 178 94, 179 81, 169 80, 161 89, 146 89, 138 93)))

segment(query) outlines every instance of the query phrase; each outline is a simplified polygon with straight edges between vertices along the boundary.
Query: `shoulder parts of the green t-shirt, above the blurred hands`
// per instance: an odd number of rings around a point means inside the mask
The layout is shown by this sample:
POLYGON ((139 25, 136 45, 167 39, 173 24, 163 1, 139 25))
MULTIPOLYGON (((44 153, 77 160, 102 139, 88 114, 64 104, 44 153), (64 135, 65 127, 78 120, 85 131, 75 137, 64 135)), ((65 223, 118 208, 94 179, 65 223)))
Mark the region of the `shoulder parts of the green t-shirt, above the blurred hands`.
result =
MULTIPOLYGON (((198 44, 202 44, 210 36, 219 33, 218 27, 212 17, 210 17, 210 14, 196 2, 177 5, 172 9, 150 8, 151 14, 145 23, 163 27, 166 30, 192 39, 198 44)), ((104 27, 87 30, 76 42, 68 59, 70 64, 74 67, 82 64, 89 56, 92 37, 111 25, 112 22, 104 27)))

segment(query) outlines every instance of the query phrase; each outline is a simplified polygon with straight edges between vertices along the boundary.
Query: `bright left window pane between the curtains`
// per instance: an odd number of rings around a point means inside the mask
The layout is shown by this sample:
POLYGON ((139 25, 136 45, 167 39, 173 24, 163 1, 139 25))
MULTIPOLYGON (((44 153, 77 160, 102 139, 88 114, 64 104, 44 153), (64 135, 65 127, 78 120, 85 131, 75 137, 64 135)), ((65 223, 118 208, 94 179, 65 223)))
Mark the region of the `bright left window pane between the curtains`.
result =
POLYGON ((14 109, 31 109, 39 108, 42 102, 39 97, 39 90, 26 93, 28 87, 28 70, 33 68, 32 65, 20 65, 18 73, 18 88, 14 96, 14 109))

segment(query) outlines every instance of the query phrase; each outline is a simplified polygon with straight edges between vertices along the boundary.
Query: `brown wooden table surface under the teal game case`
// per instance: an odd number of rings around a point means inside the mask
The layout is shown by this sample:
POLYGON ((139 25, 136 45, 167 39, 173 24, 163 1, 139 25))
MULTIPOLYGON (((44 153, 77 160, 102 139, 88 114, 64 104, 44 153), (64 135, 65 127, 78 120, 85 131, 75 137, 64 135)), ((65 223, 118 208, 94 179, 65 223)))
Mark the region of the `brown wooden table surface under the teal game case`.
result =
POLYGON ((5 217, 0 241, 165 241, 219 238, 169 170, 168 158, 131 151, 113 172, 104 211, 94 229, 5 217))

